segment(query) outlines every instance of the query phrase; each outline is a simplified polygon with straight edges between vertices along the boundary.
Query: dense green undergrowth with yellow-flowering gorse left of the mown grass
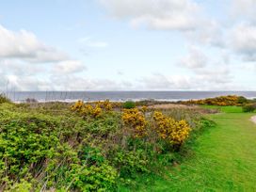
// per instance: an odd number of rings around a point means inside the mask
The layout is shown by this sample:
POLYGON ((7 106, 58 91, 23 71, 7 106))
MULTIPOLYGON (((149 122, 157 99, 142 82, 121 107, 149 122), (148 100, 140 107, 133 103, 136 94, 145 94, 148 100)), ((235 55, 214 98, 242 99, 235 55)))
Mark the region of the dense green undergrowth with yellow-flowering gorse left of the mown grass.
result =
MULTIPOLYGON (((177 164, 207 127, 186 109, 0 104, 0 190, 117 191, 177 164)), ((211 123, 210 123, 211 124, 211 123)))

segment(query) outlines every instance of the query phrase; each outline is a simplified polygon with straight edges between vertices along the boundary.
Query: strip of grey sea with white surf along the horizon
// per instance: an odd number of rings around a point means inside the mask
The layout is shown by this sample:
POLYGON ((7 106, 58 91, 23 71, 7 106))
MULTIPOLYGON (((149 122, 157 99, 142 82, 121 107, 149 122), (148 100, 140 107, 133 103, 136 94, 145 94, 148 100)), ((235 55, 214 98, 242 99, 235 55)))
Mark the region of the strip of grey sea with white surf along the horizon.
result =
POLYGON ((256 98, 256 91, 16 91, 6 94, 14 102, 24 102, 27 98, 34 98, 39 102, 102 101, 105 99, 111 101, 184 101, 221 95, 241 95, 247 98, 256 98))

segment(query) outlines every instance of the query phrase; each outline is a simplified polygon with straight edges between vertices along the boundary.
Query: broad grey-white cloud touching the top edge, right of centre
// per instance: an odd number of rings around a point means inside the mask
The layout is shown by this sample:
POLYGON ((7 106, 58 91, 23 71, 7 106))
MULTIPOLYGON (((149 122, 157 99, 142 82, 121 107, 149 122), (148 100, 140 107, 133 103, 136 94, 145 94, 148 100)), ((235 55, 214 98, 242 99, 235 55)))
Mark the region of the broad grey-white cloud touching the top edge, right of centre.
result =
POLYGON ((100 0, 111 15, 134 26, 189 30, 200 24, 200 7, 192 0, 100 0))

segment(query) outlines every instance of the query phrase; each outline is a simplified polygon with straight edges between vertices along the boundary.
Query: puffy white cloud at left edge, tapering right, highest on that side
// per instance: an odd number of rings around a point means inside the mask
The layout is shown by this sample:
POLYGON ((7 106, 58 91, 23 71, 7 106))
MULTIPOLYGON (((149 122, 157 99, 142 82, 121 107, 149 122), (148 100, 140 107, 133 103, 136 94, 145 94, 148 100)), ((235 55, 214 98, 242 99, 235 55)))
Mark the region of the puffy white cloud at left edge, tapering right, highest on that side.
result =
POLYGON ((68 56, 42 43, 30 32, 10 31, 0 25, 0 57, 21 58, 29 62, 56 62, 68 56))

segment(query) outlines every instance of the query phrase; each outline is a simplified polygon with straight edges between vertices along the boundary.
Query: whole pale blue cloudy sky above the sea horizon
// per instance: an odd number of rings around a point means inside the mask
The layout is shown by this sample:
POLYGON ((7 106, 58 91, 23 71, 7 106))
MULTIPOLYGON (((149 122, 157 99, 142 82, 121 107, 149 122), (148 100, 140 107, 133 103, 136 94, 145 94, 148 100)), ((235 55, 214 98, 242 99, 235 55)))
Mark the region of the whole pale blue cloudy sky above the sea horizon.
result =
POLYGON ((0 0, 0 91, 256 90, 256 0, 0 0))

